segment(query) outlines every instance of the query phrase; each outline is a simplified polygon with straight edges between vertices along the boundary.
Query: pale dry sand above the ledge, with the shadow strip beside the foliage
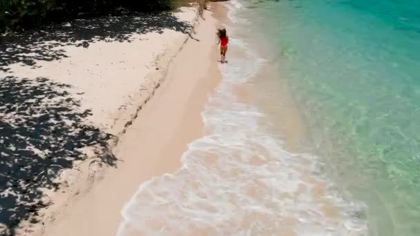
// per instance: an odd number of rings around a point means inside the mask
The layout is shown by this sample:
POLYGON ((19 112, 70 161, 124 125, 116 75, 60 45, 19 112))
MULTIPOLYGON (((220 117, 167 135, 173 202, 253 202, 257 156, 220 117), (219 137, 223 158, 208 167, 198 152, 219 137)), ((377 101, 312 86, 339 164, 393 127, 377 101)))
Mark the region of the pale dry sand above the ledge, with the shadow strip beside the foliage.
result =
MULTIPOLYGON (((108 17, 64 23, 57 35, 39 30, 28 50, 8 46, 1 77, 46 78, 71 86, 94 126, 118 135, 139 101, 150 97, 167 63, 188 38, 198 12, 108 17), (97 32, 96 32, 97 30, 97 32), (60 38, 64 35, 63 38, 60 38), (48 50, 47 50, 48 49, 48 50), (122 123, 122 124, 120 124, 122 123)), ((3 59, 2 59, 3 60, 3 59)))

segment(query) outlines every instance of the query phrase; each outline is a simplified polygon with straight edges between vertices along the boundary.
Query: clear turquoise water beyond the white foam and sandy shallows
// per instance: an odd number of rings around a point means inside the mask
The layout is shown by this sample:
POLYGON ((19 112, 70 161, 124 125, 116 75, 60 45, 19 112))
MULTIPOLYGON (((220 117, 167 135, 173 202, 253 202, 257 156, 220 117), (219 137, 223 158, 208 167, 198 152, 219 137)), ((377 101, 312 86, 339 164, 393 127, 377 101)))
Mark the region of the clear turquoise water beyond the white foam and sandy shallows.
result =
POLYGON ((370 235, 420 235, 420 1, 242 4, 370 235))

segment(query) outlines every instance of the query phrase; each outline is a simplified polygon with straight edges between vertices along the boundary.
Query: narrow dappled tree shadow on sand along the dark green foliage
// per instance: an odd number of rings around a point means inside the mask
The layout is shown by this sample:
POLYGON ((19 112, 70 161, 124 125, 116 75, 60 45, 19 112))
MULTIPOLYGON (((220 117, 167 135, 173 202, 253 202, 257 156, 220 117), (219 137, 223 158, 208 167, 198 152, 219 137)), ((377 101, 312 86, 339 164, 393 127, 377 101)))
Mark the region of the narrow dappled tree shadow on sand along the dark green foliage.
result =
POLYGON ((97 41, 131 41, 133 34, 162 33, 171 29, 188 34, 191 24, 180 21, 171 13, 133 13, 119 17, 76 19, 69 23, 53 24, 11 36, 0 36, 0 70, 10 72, 13 63, 36 68, 40 61, 67 57, 59 46, 88 48, 97 41))

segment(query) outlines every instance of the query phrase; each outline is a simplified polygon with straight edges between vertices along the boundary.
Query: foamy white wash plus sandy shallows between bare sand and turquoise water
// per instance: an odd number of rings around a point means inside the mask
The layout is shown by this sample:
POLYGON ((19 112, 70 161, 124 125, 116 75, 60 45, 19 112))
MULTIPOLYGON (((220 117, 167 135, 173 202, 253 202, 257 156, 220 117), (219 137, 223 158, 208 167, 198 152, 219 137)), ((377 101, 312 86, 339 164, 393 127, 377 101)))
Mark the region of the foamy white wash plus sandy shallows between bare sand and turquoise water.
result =
POLYGON ((285 86, 247 37, 252 28, 236 18, 243 8, 235 3, 227 4, 225 22, 229 63, 219 66, 222 81, 202 112, 208 130, 189 144, 180 168, 140 185, 122 211, 119 236, 300 235, 308 228, 321 235, 354 223, 354 209, 318 174, 317 157, 298 152, 305 135, 298 110, 289 94, 270 96, 285 86))

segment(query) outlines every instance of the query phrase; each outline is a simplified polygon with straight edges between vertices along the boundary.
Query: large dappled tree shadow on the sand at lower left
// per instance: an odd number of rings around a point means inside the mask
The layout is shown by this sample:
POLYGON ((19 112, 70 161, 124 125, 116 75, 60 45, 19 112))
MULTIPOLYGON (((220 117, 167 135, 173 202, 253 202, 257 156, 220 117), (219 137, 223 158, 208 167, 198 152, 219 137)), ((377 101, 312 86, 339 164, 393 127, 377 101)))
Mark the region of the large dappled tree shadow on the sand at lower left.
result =
MULTIPOLYGON (((112 135, 86 124, 90 110, 68 92, 70 86, 46 78, 0 81, 0 235, 14 235, 22 220, 37 222, 46 206, 40 188, 58 190, 61 170, 86 159, 82 148, 107 150, 112 135)), ((116 166, 113 155, 102 162, 116 166)))

